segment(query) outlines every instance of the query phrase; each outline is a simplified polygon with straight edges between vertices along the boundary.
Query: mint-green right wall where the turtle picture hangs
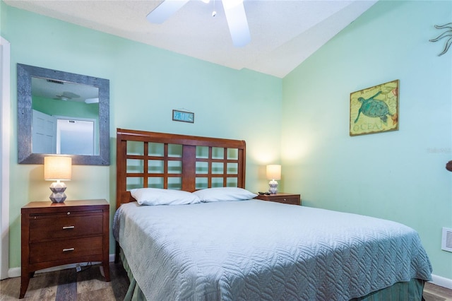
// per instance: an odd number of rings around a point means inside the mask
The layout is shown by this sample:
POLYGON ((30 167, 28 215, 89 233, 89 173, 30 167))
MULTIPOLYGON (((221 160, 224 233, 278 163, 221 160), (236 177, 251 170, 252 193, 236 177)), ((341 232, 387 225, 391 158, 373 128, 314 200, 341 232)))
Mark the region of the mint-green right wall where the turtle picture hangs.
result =
POLYGON ((283 80, 284 191, 303 204, 415 228, 452 279, 452 49, 429 42, 451 1, 379 1, 283 80), (399 130, 349 136, 350 93, 400 80, 399 130))

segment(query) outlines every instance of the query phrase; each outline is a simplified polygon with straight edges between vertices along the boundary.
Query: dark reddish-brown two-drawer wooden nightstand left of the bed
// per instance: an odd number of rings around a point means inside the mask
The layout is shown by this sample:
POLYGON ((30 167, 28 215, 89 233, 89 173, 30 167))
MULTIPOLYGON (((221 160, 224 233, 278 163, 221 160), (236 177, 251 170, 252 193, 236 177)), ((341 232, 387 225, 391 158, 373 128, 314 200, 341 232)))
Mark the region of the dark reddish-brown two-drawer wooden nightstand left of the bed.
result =
POLYGON ((20 299, 35 271, 52 266, 102 261, 105 281, 110 281, 107 201, 37 201, 23 206, 20 213, 20 299))

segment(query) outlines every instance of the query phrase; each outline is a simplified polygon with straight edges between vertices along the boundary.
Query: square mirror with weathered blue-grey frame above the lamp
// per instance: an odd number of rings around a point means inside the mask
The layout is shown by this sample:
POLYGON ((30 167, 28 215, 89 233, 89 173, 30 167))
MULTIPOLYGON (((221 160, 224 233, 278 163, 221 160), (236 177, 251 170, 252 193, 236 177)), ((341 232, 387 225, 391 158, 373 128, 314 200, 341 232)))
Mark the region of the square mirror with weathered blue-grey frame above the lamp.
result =
POLYGON ((18 163, 109 165, 109 80, 17 64, 18 163))

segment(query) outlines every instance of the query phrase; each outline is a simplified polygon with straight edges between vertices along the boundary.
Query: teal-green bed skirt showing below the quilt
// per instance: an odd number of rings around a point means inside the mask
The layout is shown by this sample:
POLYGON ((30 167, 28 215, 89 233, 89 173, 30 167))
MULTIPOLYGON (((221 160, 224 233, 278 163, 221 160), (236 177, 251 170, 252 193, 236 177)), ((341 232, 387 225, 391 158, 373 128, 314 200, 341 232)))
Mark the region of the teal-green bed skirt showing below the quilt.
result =
MULTIPOLYGON (((122 250, 119 254, 121 256, 122 265, 124 266, 130 281, 129 290, 127 290, 124 301, 147 301, 140 286, 136 283, 135 278, 133 278, 133 273, 129 268, 129 264, 127 264, 126 256, 124 256, 122 250)), ((351 301, 422 301, 424 300, 422 297, 424 283, 423 280, 413 278, 411 281, 398 282, 391 285, 389 288, 377 290, 364 297, 354 298, 351 301)))

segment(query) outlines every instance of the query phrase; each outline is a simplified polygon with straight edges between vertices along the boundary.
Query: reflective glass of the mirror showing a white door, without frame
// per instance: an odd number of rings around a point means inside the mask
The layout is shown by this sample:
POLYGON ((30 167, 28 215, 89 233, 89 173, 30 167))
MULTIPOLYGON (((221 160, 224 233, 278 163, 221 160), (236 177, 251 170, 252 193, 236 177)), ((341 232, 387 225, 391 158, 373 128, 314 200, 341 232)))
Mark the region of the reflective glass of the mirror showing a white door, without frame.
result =
POLYGON ((99 155, 99 88, 32 76, 32 153, 99 155))

